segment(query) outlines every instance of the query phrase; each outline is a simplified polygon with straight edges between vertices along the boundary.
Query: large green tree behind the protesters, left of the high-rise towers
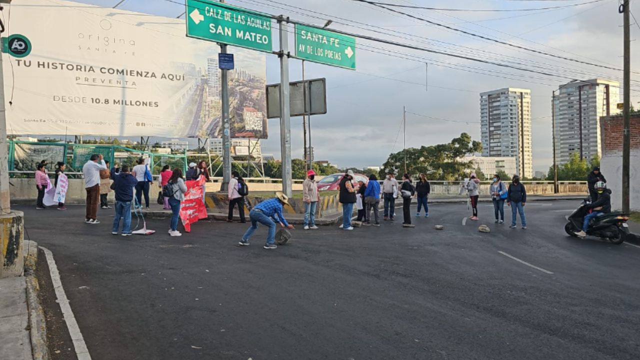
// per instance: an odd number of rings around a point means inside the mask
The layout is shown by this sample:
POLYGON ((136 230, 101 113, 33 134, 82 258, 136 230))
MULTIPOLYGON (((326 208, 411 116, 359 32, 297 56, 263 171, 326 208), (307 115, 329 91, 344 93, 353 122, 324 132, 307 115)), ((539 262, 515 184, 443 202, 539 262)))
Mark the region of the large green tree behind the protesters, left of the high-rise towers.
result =
MULTIPOLYGON (((424 173, 432 180, 456 180, 473 168, 470 161, 460 161, 467 154, 482 151, 482 143, 472 141, 467 133, 460 134, 450 143, 406 149, 407 172, 410 175, 424 173)), ((379 174, 387 171, 404 172, 404 150, 390 154, 379 174)))

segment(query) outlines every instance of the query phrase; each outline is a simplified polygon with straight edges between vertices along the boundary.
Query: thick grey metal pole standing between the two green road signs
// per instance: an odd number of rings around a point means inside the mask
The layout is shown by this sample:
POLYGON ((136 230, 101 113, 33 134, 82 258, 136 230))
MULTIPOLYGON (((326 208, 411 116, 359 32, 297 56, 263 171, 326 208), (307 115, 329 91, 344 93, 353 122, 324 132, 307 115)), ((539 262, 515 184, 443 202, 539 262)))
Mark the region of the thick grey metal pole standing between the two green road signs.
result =
POLYGON ((291 197, 291 118, 289 109, 289 38, 287 20, 278 17, 280 28, 280 152, 282 156, 282 192, 291 197))

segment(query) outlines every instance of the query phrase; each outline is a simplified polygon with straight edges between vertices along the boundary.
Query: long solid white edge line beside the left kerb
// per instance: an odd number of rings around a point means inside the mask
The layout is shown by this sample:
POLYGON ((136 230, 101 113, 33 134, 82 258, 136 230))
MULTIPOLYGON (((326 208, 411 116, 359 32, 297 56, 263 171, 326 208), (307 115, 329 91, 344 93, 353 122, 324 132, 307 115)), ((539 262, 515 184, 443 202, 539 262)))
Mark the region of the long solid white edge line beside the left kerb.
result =
POLYGON ((69 335, 71 336, 71 340, 74 343, 74 348, 76 349, 76 356, 78 360, 91 360, 89 350, 88 348, 86 348, 86 343, 84 343, 82 332, 80 332, 80 327, 78 327, 74 312, 71 310, 71 306, 69 305, 69 299, 67 299, 65 289, 62 287, 60 273, 58 272, 58 265, 56 265, 56 261, 53 259, 53 254, 49 249, 45 247, 41 246, 40 249, 42 249, 45 256, 47 256, 47 263, 49 263, 49 274, 51 274, 53 290, 56 291, 56 302, 60 304, 62 315, 64 316, 65 322, 67 323, 69 335))

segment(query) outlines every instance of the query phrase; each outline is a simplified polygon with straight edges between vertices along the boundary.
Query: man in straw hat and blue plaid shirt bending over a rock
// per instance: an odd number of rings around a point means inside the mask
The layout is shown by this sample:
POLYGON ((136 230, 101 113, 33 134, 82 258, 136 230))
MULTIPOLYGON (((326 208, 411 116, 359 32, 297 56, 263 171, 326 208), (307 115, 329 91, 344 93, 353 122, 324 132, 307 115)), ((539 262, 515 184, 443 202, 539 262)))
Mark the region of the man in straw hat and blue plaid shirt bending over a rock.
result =
POLYGON ((293 225, 287 223, 287 219, 282 215, 282 206, 289 204, 289 197, 282 192, 276 192, 276 197, 269 200, 264 200, 257 204, 249 213, 251 219, 251 226, 244 233, 242 240, 239 242, 242 246, 249 245, 249 238, 252 236, 255 229, 258 228, 258 223, 269 227, 267 234, 267 243, 264 244, 264 249, 276 249, 276 222, 280 223, 282 227, 294 229, 293 225))

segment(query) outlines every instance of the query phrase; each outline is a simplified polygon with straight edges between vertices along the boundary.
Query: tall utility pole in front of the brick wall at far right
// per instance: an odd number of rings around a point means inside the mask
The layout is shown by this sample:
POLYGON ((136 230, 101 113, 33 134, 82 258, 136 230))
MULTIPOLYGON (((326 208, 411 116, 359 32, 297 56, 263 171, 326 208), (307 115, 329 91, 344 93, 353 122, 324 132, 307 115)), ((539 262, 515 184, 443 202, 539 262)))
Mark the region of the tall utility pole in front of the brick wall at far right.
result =
POLYGON ((631 40, 629 25, 629 0, 624 0, 623 17, 624 17, 624 74, 623 74, 623 92, 625 108, 622 113, 623 130, 622 130, 622 211, 629 212, 629 160, 630 160, 630 134, 629 134, 629 110, 630 110, 630 72, 631 72, 631 40))

